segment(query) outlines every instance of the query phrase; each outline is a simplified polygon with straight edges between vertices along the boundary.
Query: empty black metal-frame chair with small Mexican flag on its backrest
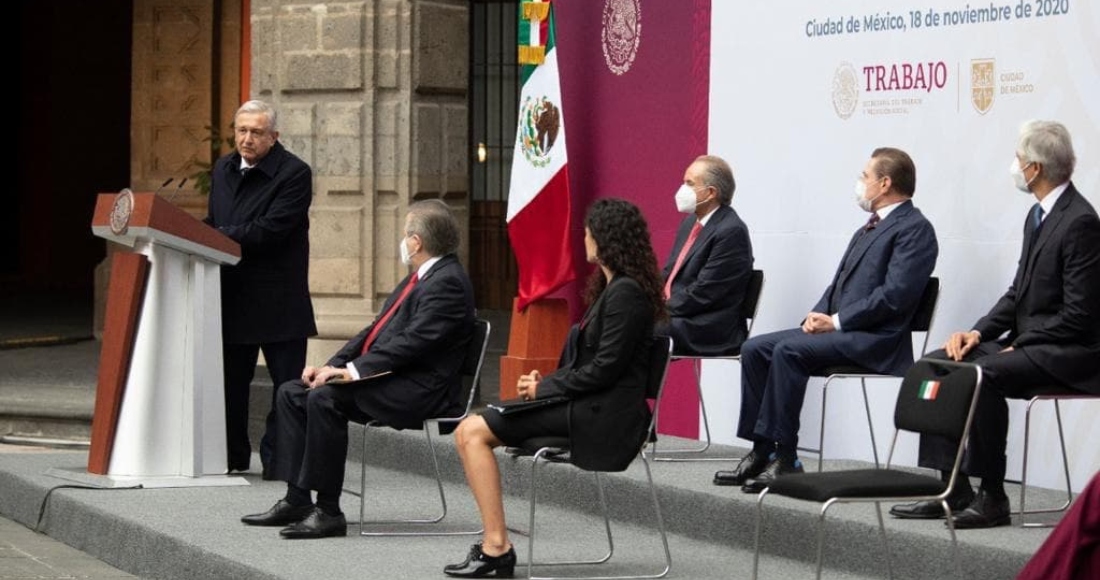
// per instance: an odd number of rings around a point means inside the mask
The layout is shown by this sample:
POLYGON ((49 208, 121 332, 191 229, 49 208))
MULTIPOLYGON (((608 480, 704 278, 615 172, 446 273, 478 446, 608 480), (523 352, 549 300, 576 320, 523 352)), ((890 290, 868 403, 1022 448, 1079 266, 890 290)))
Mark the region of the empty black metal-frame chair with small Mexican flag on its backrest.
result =
POLYGON ((757 499, 756 547, 752 556, 752 579, 759 577, 760 536, 763 501, 769 493, 822 504, 817 518, 817 579, 822 576, 825 539, 825 514, 835 503, 873 503, 879 533, 887 551, 887 570, 893 578, 890 545, 882 519, 882 502, 936 501, 947 514, 955 566, 965 578, 955 535, 955 523, 947 497, 963 463, 967 435, 974 422, 978 394, 981 391, 981 368, 976 364, 922 359, 905 373, 894 406, 894 436, 890 444, 886 469, 854 469, 824 473, 795 473, 776 478, 757 499), (935 385, 932 385, 935 383, 935 385), (938 474, 925 475, 911 470, 893 469, 893 453, 901 431, 938 435, 959 441, 950 480, 944 483, 938 474))

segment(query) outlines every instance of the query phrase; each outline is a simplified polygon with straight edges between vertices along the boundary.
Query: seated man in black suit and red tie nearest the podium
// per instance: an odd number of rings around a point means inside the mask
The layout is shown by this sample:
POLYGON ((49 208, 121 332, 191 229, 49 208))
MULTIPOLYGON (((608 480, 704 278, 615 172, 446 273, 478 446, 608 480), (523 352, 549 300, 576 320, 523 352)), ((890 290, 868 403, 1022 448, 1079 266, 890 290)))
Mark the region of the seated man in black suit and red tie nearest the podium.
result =
POLYGON ((473 286, 454 256, 459 227, 438 199, 409 206, 399 242, 413 272, 378 317, 321 368, 276 395, 275 479, 286 496, 242 522, 287 526, 284 538, 343 536, 340 510, 348 422, 419 428, 427 418, 461 413, 462 361, 473 336, 473 286), (348 382, 351 381, 351 382, 348 382), (342 383, 342 384, 341 384, 342 383), (317 492, 317 503, 310 491, 317 492))

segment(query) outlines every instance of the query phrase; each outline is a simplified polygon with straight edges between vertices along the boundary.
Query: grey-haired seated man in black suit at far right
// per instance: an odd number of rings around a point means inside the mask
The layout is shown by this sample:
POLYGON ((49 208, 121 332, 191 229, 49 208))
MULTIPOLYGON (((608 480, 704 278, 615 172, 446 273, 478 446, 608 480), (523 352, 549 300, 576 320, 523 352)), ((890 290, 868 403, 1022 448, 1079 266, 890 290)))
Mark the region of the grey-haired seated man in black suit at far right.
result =
MULTIPOLYGON (((1009 411, 1005 397, 1036 387, 1100 394, 1100 219, 1070 177, 1076 163, 1069 131, 1060 123, 1025 123, 1011 173, 1016 188, 1035 196, 1024 220, 1015 277, 972 330, 955 332, 930 357, 981 366, 981 396, 963 472, 981 478, 977 495, 967 478, 948 500, 955 527, 1007 526, 1004 493, 1009 411)), ((922 467, 949 472, 958 441, 922 438, 922 467)), ((946 479, 945 479, 946 481, 946 479)), ((935 502, 895 505, 898 517, 944 517, 935 502)))

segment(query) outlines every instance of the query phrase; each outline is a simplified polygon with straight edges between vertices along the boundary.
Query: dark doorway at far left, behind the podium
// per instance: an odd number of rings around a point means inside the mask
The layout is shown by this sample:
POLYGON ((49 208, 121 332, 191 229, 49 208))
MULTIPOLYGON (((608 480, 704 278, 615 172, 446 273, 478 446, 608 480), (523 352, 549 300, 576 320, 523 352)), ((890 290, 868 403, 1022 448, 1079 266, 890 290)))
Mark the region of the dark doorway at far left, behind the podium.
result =
POLYGON ((0 212, 0 338, 36 318, 91 333, 96 195, 130 175, 130 0, 21 0, 14 191, 0 212), (78 325, 79 326, 79 325, 78 325))

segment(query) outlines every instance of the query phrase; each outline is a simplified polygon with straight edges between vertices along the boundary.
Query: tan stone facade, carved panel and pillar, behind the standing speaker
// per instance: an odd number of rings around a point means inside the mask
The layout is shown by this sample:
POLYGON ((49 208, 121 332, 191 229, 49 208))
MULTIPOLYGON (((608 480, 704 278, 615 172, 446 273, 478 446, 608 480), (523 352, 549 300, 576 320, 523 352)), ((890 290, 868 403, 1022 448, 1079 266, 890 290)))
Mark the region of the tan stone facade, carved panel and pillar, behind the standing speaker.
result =
MULTIPOLYGON (((323 360, 406 274, 410 203, 441 198, 469 229, 469 30, 466 0, 134 0, 132 183, 186 175, 242 98, 272 102, 314 169, 308 360, 323 360)), ((205 212, 195 190, 176 203, 205 212)))

